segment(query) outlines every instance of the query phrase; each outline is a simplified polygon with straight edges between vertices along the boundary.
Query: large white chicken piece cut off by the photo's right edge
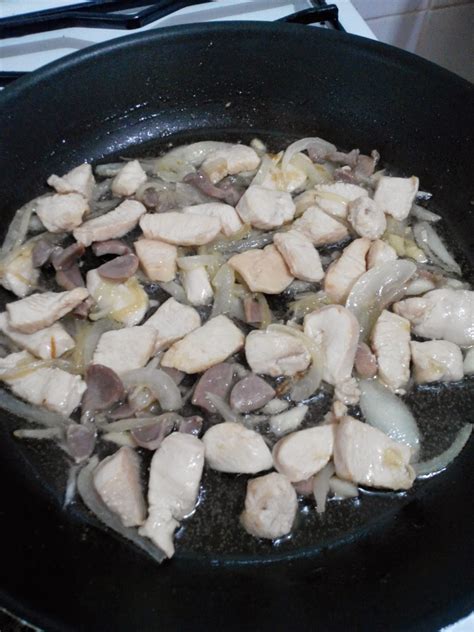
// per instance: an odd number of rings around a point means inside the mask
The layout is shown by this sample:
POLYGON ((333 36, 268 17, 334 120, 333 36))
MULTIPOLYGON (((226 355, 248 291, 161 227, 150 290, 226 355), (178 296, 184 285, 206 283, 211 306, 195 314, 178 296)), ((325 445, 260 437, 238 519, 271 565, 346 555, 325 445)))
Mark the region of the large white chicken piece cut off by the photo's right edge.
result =
POLYGON ((417 336, 449 340, 461 347, 474 345, 472 290, 432 290, 395 303, 393 309, 408 318, 417 336))

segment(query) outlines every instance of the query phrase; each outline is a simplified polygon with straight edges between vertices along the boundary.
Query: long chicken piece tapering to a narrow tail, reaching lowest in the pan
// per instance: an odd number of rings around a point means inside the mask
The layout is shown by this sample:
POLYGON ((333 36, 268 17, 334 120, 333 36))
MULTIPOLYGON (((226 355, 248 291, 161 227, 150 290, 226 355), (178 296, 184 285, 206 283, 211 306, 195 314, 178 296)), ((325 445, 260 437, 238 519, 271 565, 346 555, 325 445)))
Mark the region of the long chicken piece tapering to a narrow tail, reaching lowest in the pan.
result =
POLYGON ((173 432, 153 455, 148 483, 148 518, 140 529, 168 557, 173 533, 196 505, 204 466, 204 444, 190 434, 173 432))

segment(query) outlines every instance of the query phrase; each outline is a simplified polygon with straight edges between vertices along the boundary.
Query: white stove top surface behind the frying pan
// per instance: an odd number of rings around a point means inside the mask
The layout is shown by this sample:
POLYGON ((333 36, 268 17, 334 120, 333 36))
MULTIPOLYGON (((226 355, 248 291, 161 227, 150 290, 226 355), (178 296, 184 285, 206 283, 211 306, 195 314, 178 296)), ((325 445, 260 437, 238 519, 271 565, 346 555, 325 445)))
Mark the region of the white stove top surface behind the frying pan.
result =
MULTIPOLYGON (((0 17, 58 8, 85 1, 0 0, 0 17)), ((146 0, 144 0, 144 4, 146 4, 146 0)), ((350 0, 337 0, 336 4, 339 8, 339 21, 347 32, 376 39, 350 0)), ((91 44, 159 26, 221 20, 264 20, 271 22, 311 6, 309 0, 293 0, 293 2, 288 0, 216 0, 181 9, 133 31, 81 27, 0 40, 0 70, 28 72, 91 44)))

